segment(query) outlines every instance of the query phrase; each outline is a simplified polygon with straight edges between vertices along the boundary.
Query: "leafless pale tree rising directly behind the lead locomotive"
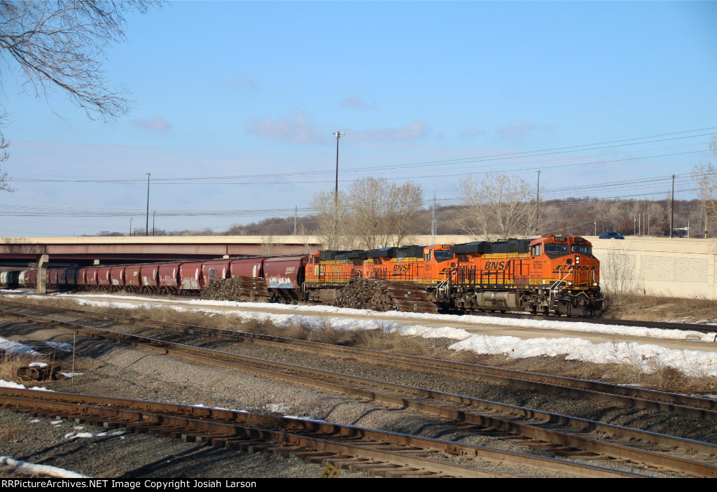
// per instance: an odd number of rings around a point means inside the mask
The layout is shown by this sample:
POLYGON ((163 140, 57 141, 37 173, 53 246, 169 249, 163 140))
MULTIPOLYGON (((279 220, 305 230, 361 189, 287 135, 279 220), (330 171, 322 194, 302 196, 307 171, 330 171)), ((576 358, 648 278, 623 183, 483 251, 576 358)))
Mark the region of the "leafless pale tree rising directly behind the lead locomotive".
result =
POLYGON ((457 225, 471 236, 493 241, 524 236, 535 229, 533 190, 518 176, 503 173, 488 173, 483 178, 469 176, 459 188, 464 208, 457 225))

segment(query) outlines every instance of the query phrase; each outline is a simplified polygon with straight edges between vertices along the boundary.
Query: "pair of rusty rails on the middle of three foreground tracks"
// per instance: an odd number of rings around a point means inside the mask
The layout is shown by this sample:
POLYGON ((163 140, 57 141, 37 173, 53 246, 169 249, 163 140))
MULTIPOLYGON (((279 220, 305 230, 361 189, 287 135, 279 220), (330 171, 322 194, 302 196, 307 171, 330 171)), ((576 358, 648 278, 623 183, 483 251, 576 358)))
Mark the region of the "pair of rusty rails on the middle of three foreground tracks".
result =
POLYGON ((369 400, 377 400, 384 403, 397 405, 399 407, 412 408, 414 410, 418 410, 422 413, 427 413, 429 415, 437 415, 442 418, 449 418, 451 420, 456 420, 458 422, 467 423, 470 425, 478 425, 483 428, 498 429, 507 433, 523 435, 528 438, 555 443, 556 445, 560 446, 568 446, 571 448, 588 450, 591 453, 609 455, 619 459, 637 460, 641 463, 647 464, 648 466, 655 466, 657 468, 665 468, 677 472, 692 473, 695 476, 717 476, 717 466, 713 466, 709 463, 669 456, 663 453, 657 453, 649 450, 636 450, 635 448, 631 448, 625 445, 606 443, 601 440, 586 438, 584 436, 571 435, 569 433, 562 433, 555 430, 547 430, 545 428, 541 428, 538 425, 516 423, 512 420, 505 420, 500 418, 492 418, 485 415, 473 414, 465 412, 463 410, 446 407, 443 405, 429 404, 416 400, 407 400, 402 397, 396 397, 391 395, 382 395, 371 390, 362 389, 360 387, 346 387, 345 383, 347 381, 350 381, 359 385, 377 386, 384 389, 399 392, 409 392, 411 394, 418 395, 419 397, 429 397, 434 399, 440 398, 442 400, 455 402, 460 405, 470 405, 474 407, 488 408, 490 410, 502 411, 503 413, 519 415, 524 418, 537 418, 538 420, 542 420, 543 423, 559 423, 561 425, 571 425, 575 428, 582 430, 599 431, 608 433, 609 435, 620 435, 623 438, 640 439, 644 440, 645 442, 656 442, 660 445, 667 445, 670 447, 682 448, 685 450, 693 450, 706 455, 717 454, 717 446, 712 445, 710 443, 701 443, 700 441, 676 438, 669 435, 650 433, 630 428, 622 428, 617 425, 598 423, 591 420, 584 420, 579 418, 571 418, 566 415, 541 412, 539 410, 517 407, 515 405, 505 405, 497 402, 490 402, 488 400, 479 400, 476 398, 465 397, 462 395, 452 395, 446 392, 425 390, 424 388, 418 387, 408 387, 404 385, 397 385, 391 382, 371 380, 368 378, 345 375, 337 372, 312 369, 310 367, 262 360, 257 357, 248 357, 239 354, 232 354, 230 352, 222 352, 212 349, 202 349, 199 347, 192 347, 186 344, 176 344, 173 342, 166 342, 158 339, 138 337, 137 335, 112 332, 107 329, 84 327, 79 324, 57 322, 54 320, 47 321, 47 319, 32 317, 27 314, 13 314, 15 317, 19 317, 21 319, 29 319, 30 322, 42 324, 43 326, 53 327, 57 329, 67 329, 70 332, 77 332, 81 335, 98 337, 100 339, 108 339, 113 342, 128 343, 137 347, 146 347, 153 352, 175 355, 176 357, 183 357, 185 359, 194 360, 195 362, 201 362, 207 365, 215 365, 228 369, 240 369, 255 375, 273 377, 275 379, 296 382, 298 384, 310 385, 313 387, 322 387, 326 390, 338 391, 342 392, 343 394, 353 395, 356 397, 365 397, 369 400), (269 370, 265 367, 257 367, 257 365, 269 365, 270 367, 278 367, 281 370, 303 372, 310 375, 314 375, 315 377, 323 377, 325 379, 315 380, 306 376, 287 374, 286 372, 269 370), (326 378, 329 378, 329 380, 326 380, 326 378), (333 382, 331 380, 335 380, 336 382, 333 382))

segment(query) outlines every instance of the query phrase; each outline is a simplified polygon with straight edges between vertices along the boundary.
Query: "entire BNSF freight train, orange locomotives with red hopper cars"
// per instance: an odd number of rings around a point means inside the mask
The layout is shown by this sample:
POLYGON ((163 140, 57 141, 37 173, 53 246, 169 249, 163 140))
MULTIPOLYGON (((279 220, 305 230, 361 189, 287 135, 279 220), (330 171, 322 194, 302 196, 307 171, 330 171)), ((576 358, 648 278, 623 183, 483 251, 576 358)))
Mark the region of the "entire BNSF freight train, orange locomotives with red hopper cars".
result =
MULTIPOLYGON (((198 295, 212 281, 237 277, 261 279, 262 295, 272 302, 330 304, 342 289, 360 279, 379 286, 408 286, 405 292, 445 312, 521 310, 592 316, 602 311, 599 261, 589 241, 578 236, 48 269, 47 286, 198 295)), ((0 276, 0 286, 36 284, 36 271, 0 276)), ((256 284, 247 289, 256 289, 256 284)), ((248 296, 251 293, 247 292, 246 299, 253 299, 248 296)), ((244 300, 242 295, 239 300, 244 300)))

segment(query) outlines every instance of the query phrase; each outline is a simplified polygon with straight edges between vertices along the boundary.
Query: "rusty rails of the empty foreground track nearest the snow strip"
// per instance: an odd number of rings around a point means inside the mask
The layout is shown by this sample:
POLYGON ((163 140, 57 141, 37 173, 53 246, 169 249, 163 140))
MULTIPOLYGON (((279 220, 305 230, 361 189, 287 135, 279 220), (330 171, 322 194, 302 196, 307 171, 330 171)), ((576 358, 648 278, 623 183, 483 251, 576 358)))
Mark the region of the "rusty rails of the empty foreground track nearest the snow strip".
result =
POLYGON ((486 365, 468 364, 466 362, 452 362, 430 357, 421 357, 393 352, 381 352, 373 349, 358 347, 341 347, 333 344, 309 342, 306 340, 275 337, 272 335, 255 334, 250 332, 236 332, 228 329, 201 327, 176 322, 163 322, 153 319, 128 317, 119 314, 105 314, 88 312, 82 309, 39 307, 35 304, 20 302, 6 302, 16 307, 40 309, 50 312, 72 312, 85 317, 104 319, 115 322, 129 322, 141 324, 146 327, 159 327, 189 334, 206 334, 212 337, 222 337, 237 342, 254 342, 285 348, 288 345, 301 347, 307 353, 326 354, 326 351, 335 352, 337 357, 350 356, 357 360, 364 360, 379 365, 391 362, 393 367, 407 370, 420 370, 429 374, 459 377, 465 380, 488 382, 489 384, 508 385, 519 390, 537 390, 541 392, 571 397, 588 398, 590 400, 609 402, 614 405, 640 408, 642 410, 666 410, 693 418, 717 421, 717 400, 713 398, 680 395, 676 393, 624 385, 614 385, 606 382, 579 380, 572 377, 546 375, 537 372, 504 369, 486 365))

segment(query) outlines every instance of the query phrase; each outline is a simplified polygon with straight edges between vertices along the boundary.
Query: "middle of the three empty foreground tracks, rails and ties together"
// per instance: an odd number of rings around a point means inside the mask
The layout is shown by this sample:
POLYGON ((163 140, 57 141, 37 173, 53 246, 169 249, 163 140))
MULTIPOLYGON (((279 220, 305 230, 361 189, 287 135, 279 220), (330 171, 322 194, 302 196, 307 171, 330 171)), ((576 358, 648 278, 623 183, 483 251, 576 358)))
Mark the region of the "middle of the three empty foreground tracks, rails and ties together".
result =
POLYGON ((709 443, 646 433, 616 425, 503 405, 462 395, 451 395, 445 392, 261 360, 229 352, 201 349, 186 344, 174 344, 164 340, 138 337, 106 329, 57 322, 17 312, 5 311, 3 314, 26 319, 46 327, 66 329, 83 336, 100 337, 112 342, 125 342, 150 349, 153 352, 172 354, 195 362, 229 367, 255 375, 343 392, 345 395, 369 398, 389 405, 412 408, 422 413, 454 420, 464 426, 469 426, 476 433, 500 435, 501 438, 520 442, 541 449, 543 452, 548 450, 550 453, 564 458, 593 458, 606 460, 606 462, 623 460, 641 463, 641 466, 660 471, 688 473, 691 476, 717 476, 713 458, 709 458, 710 455, 717 454, 717 448, 709 443), (347 383, 349 384, 347 385, 347 383), (389 392, 377 393, 376 387, 389 392), (405 397, 404 395, 407 394, 414 395, 414 398, 405 397), (432 401, 423 401, 426 398, 432 401), (488 413, 493 415, 488 415, 488 413), (528 422, 528 419, 531 421, 528 422), (556 425, 560 426, 560 430, 551 428, 556 425), (593 434, 586 435, 588 431, 593 434), (598 439, 594 437, 594 433, 603 433, 609 435, 610 438, 598 439), (631 443, 632 445, 630 445, 631 443), (635 447, 636 443, 639 448, 635 447), (653 444, 647 445, 647 443, 653 444), (683 455, 668 453, 670 448, 677 448, 683 455), (690 453, 698 453, 703 457, 697 459, 690 453))

